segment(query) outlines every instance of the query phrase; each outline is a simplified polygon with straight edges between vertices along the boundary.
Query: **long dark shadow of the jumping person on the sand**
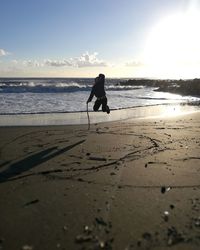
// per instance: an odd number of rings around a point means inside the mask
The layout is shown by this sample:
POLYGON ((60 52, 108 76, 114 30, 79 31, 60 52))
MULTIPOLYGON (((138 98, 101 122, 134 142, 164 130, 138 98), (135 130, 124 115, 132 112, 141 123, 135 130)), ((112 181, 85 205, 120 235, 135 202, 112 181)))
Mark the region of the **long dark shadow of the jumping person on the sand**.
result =
POLYGON ((85 142, 85 140, 81 140, 75 144, 69 145, 59 150, 58 147, 51 147, 31 156, 28 156, 20 161, 17 161, 8 166, 6 170, 0 173, 0 183, 6 182, 10 178, 15 177, 16 175, 19 175, 25 171, 28 171, 31 168, 37 167, 41 163, 51 160, 52 158, 69 151, 70 149, 78 146, 83 142, 85 142))

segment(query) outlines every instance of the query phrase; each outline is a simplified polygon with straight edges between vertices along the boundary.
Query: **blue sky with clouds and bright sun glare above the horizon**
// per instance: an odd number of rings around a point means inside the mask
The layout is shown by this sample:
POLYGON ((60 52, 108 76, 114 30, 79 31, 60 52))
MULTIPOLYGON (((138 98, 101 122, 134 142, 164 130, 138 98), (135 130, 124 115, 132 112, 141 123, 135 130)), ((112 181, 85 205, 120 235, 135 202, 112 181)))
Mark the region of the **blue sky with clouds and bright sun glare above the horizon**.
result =
POLYGON ((200 0, 0 0, 0 9, 0 77, 199 77, 200 0))

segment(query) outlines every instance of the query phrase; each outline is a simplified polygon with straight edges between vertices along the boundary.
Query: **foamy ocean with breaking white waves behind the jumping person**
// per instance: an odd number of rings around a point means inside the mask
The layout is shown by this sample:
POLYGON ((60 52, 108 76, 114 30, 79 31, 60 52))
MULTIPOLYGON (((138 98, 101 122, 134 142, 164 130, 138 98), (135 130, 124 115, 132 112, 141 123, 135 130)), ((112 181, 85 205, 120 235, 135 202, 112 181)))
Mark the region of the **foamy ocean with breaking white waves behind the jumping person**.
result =
MULTIPOLYGON (((152 87, 120 85, 125 80, 106 79, 105 89, 111 110, 200 100, 156 92, 152 87)), ((93 83, 91 78, 0 78, 0 115, 86 111, 93 83)), ((93 102, 89 103, 90 111, 93 102)))

